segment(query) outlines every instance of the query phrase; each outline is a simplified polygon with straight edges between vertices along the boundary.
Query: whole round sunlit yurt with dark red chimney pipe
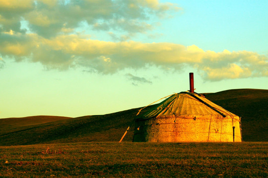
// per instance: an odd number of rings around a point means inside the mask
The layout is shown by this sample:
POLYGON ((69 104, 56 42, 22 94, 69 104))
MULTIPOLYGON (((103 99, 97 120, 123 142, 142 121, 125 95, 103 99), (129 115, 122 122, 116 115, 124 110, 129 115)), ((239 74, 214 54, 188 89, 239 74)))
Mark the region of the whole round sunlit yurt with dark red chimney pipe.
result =
MULTIPOLYGON (((194 92, 175 93, 135 118, 134 142, 240 142, 240 118, 194 92)), ((145 111, 146 110, 146 111, 145 111)))

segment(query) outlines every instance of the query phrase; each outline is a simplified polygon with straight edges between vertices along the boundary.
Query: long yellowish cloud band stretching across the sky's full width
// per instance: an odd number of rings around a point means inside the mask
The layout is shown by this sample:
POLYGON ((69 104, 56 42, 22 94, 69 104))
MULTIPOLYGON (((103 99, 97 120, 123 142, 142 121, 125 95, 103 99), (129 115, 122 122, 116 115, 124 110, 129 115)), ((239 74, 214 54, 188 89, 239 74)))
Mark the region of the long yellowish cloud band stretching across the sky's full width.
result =
POLYGON ((46 39, 36 34, 2 33, 0 53, 16 60, 28 58, 49 68, 82 66, 103 74, 145 68, 197 68, 207 80, 268 76, 268 57, 250 51, 203 51, 196 45, 171 43, 104 42, 77 35, 46 39))

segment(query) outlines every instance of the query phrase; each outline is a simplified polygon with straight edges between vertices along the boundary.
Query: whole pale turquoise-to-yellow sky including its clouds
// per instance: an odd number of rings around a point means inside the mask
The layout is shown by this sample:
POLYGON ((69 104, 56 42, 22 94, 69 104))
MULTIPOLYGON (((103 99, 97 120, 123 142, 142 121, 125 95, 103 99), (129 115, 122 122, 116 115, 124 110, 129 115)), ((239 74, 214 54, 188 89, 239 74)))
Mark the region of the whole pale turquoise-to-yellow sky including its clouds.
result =
POLYGON ((0 118, 268 89, 267 0, 0 0, 0 118))

